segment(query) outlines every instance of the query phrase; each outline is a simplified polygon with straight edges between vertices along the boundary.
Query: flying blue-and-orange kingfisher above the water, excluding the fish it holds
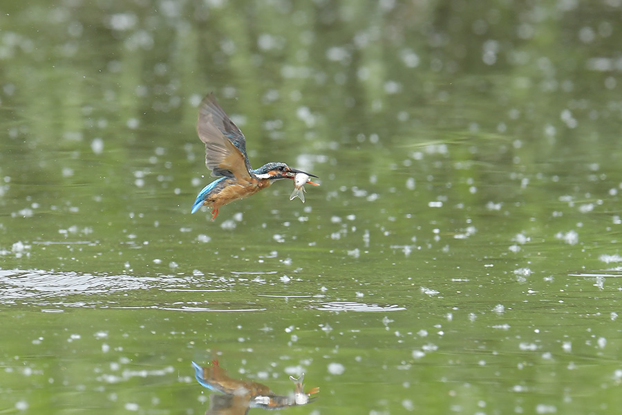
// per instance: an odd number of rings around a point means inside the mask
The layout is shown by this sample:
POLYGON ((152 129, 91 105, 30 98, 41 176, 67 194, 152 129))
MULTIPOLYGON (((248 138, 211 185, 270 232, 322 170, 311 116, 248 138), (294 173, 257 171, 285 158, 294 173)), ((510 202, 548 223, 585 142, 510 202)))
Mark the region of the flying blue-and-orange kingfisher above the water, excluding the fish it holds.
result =
POLYGON ((205 165, 211 170, 211 176, 218 179, 199 192, 191 213, 207 206, 212 209, 212 221, 220 206, 252 196, 281 178, 293 180, 296 174, 317 177, 285 163, 267 163, 253 169, 246 154, 244 134, 220 108, 213 93, 203 98, 199 106, 196 132, 205 143, 205 165))

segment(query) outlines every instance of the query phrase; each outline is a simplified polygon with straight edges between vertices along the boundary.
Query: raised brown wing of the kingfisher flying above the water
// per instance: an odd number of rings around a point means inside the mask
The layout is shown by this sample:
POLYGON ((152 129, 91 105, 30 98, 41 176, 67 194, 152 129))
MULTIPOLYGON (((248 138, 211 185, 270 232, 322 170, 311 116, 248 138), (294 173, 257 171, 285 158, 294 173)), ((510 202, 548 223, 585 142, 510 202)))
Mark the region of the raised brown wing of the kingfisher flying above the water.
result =
POLYGON ((200 104, 196 132, 205 142, 205 165, 212 176, 250 178, 244 135, 211 93, 200 104))

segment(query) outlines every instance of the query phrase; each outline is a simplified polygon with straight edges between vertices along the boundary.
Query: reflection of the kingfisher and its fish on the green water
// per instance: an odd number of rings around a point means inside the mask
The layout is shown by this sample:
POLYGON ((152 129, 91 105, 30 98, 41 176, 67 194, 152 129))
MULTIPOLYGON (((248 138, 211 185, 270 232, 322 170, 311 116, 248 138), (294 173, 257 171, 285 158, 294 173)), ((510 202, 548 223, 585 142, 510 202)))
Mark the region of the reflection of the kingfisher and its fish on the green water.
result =
POLYGON ((220 392, 209 397, 209 408, 205 415, 239 415, 247 414, 250 408, 282 409, 290 406, 306 405, 312 402, 319 388, 314 387, 308 392, 303 389, 305 374, 299 378, 290 376, 294 382, 294 393, 276 395, 269 387, 252 380, 229 378, 227 371, 212 360, 211 365, 201 367, 192 362, 194 376, 200 385, 220 392))

